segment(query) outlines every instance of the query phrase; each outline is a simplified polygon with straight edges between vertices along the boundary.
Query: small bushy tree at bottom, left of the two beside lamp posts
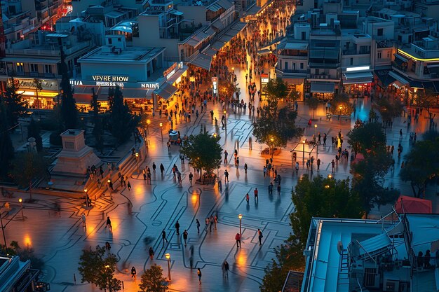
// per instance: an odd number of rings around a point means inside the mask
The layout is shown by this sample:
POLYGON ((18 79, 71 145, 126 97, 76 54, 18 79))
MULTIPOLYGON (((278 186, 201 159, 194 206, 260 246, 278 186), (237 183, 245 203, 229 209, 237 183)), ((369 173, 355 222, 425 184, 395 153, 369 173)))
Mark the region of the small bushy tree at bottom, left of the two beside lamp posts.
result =
POLYGON ((119 291, 122 288, 122 281, 114 278, 117 258, 113 253, 105 257, 105 253, 105 248, 99 245, 96 246, 95 251, 83 249, 78 267, 81 281, 95 284, 101 290, 119 291))

